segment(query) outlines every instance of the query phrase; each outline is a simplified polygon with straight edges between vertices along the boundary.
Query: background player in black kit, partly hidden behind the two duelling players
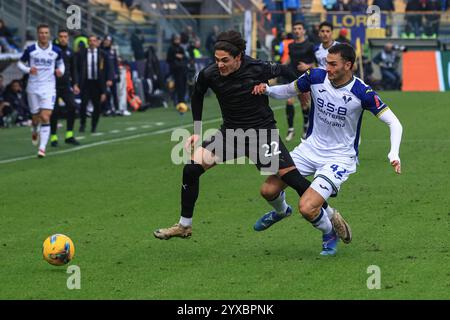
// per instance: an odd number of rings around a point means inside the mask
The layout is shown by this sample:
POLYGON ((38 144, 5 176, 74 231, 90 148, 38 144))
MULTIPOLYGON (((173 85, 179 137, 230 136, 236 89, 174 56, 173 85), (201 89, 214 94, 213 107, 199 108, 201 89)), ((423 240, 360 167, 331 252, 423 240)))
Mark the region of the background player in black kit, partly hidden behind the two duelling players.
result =
MULTIPOLYGON (((316 57, 314 55, 314 44, 310 42, 306 35, 306 29, 303 22, 295 22, 293 25, 293 33, 295 40, 289 45, 289 65, 295 74, 294 78, 287 79, 292 82, 298 79, 306 70, 314 66, 316 57)), ((309 109, 311 104, 310 94, 302 93, 298 95, 300 105, 303 112, 303 136, 308 131, 309 109)), ((286 141, 292 140, 294 137, 294 98, 290 98, 286 102, 286 116, 288 122, 288 134, 286 141)))

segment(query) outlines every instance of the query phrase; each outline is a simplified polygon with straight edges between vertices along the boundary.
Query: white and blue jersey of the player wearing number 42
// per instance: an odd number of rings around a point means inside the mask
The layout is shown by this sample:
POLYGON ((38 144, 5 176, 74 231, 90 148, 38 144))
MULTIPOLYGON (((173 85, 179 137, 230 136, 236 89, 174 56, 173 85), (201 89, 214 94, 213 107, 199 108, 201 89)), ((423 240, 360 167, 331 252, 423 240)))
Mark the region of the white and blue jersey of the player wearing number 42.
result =
POLYGON ((295 81, 299 92, 311 91, 306 140, 323 157, 356 157, 363 111, 380 117, 389 108, 361 79, 334 87, 323 69, 310 69, 295 81))

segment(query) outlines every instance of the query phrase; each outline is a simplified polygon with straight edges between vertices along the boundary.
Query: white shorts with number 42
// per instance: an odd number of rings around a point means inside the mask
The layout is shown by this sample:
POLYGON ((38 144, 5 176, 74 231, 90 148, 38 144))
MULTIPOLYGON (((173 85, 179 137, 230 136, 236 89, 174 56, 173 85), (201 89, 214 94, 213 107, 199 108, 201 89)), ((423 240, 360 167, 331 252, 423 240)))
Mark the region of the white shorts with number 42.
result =
POLYGON ((314 175, 311 188, 325 200, 337 196, 341 184, 356 172, 356 157, 324 158, 306 143, 292 150, 291 157, 302 176, 314 175))

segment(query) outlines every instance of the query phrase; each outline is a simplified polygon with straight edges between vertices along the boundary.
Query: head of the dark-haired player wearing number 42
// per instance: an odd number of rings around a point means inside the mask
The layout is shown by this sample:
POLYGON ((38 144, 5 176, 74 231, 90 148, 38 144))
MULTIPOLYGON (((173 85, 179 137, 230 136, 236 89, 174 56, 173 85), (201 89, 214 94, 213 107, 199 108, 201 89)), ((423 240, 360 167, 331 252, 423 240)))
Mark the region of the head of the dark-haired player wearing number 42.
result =
POLYGON ((327 73, 328 79, 333 82, 340 82, 345 77, 352 74, 356 53, 352 46, 339 43, 328 50, 327 73))

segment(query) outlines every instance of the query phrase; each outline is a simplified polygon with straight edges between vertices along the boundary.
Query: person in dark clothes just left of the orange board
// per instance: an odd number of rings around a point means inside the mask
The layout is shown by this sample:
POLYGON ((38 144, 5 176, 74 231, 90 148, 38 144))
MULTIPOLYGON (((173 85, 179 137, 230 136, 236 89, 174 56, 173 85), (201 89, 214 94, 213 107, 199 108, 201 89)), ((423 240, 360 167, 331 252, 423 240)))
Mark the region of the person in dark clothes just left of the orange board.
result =
POLYGON ((391 42, 386 43, 383 51, 373 58, 373 62, 381 69, 383 89, 400 90, 401 78, 397 71, 399 61, 400 57, 391 42))

